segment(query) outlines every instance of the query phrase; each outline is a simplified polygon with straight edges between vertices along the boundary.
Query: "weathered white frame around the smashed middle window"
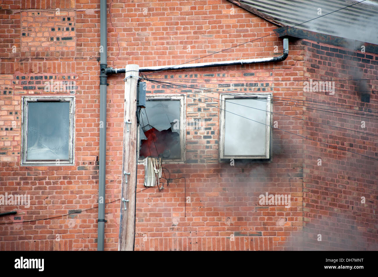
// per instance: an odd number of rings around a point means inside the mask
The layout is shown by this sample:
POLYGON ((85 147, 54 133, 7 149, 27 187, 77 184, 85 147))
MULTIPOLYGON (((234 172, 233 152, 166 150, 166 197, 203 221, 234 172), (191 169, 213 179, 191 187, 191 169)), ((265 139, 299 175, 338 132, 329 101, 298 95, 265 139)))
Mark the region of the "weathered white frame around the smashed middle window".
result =
MULTIPOLYGON (((180 159, 163 159, 163 164, 182 164, 185 162, 185 148, 186 148, 186 97, 184 95, 160 94, 160 95, 146 95, 146 102, 153 100, 180 100, 180 159)), ((141 110, 141 113, 144 109, 141 110)), ((142 114, 141 114, 142 116, 142 114)), ((139 124, 142 124, 142 119, 139 119, 139 124)), ((144 122, 146 124, 146 122, 144 122)), ((139 158, 140 149, 140 127, 138 126, 138 164, 144 164, 146 158, 139 158)))

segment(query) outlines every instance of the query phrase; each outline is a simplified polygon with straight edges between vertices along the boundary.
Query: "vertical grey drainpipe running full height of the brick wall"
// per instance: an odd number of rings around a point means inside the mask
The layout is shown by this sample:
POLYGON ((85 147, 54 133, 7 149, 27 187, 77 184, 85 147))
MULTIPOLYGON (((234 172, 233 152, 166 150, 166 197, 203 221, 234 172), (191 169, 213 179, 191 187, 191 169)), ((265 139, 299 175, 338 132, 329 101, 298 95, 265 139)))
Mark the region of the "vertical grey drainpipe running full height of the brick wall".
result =
POLYGON ((100 153, 98 180, 97 251, 104 251, 105 239, 105 160, 106 160, 106 83, 107 83, 107 11, 106 0, 100 0, 100 153), (101 128, 102 127, 102 128, 101 128))

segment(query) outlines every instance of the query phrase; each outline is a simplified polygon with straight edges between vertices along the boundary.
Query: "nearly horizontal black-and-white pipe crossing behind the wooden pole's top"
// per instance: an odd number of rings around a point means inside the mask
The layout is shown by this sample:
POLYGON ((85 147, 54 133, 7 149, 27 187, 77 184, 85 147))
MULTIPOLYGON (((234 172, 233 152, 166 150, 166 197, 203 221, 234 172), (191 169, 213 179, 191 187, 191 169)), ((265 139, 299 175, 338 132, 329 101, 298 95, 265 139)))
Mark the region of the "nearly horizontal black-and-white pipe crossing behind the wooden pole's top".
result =
MULTIPOLYGON (((276 63, 283 61, 289 55, 289 40, 288 38, 283 39, 283 54, 279 57, 268 57, 268 58, 257 58, 248 60, 234 60, 234 61, 217 61, 215 63, 189 63, 180 64, 178 66, 150 66, 150 67, 139 67, 139 72, 149 72, 149 71, 163 71, 163 70, 180 70, 180 69, 193 69, 193 68, 206 68, 215 66, 235 66, 243 64, 254 64, 254 63, 276 63)), ((110 74, 125 73, 125 69, 115 69, 113 67, 107 68, 110 74)))

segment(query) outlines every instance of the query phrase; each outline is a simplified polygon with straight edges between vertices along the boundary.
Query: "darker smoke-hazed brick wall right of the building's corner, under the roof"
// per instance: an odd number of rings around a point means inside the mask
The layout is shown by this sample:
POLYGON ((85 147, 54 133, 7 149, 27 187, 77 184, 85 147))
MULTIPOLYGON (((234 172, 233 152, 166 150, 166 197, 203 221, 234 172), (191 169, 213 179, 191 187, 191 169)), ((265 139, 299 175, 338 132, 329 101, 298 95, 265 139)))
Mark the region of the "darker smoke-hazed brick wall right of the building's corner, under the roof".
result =
MULTIPOLYGON (((304 92, 306 100, 320 102, 312 104, 334 104, 305 106, 337 112, 305 109, 304 118, 363 132, 304 122, 304 135, 377 159, 377 140, 373 135, 378 131, 378 82, 338 79, 377 78, 378 55, 311 41, 303 41, 303 44, 305 76, 313 80, 335 80, 336 84, 335 93, 331 95, 324 91, 304 92), (364 93, 361 90, 368 91, 370 103, 361 101, 361 93, 364 93), (361 121, 365 121, 365 128, 361 127, 361 121)), ((376 250, 377 161, 313 141, 304 141, 304 159, 305 227, 304 240, 299 245, 319 250, 376 250), (322 160, 321 166, 318 159, 322 160), (366 198, 365 203, 361 203, 361 197, 366 198), (322 235, 321 242, 317 240, 318 234, 322 235)))

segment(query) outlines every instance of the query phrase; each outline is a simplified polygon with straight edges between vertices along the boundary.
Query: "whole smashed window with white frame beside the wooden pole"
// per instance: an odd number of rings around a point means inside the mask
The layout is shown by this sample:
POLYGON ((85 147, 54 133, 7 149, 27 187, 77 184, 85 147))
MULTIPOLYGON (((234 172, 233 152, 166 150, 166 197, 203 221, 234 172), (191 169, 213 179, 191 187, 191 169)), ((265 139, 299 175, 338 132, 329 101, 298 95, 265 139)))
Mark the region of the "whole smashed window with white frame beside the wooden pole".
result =
POLYGON ((183 162, 184 96, 147 96, 139 119, 139 162, 160 156, 163 162, 183 162))

